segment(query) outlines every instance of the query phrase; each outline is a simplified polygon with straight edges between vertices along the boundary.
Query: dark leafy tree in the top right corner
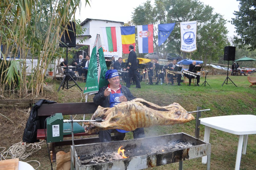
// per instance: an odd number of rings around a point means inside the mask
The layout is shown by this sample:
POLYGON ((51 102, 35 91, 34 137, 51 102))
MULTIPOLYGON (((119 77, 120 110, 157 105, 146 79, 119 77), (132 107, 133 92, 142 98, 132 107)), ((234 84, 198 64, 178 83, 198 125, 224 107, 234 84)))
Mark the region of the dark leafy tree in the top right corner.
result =
POLYGON ((238 35, 234 36, 234 41, 240 48, 246 47, 252 51, 256 49, 256 1, 239 1, 239 11, 234 11, 235 18, 231 21, 238 35))

